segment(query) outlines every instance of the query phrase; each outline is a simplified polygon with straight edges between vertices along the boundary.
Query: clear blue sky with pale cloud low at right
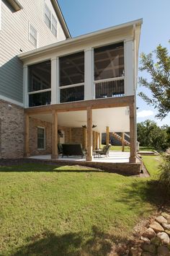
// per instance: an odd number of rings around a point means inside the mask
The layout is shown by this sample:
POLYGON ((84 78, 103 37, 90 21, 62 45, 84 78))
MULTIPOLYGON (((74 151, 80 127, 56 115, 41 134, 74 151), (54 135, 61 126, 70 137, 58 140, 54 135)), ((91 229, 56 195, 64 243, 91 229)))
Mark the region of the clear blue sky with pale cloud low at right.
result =
MULTIPOLYGON (((58 3, 72 37, 143 18, 139 63, 140 53, 150 53, 160 43, 170 52, 170 0, 58 0, 58 3)), ((138 75, 147 77, 141 72, 138 75)), ((138 86, 140 91, 151 97, 144 87, 138 86)), ((170 114, 164 120, 156 119, 156 109, 138 96, 137 107, 138 122, 151 119, 159 126, 170 125, 170 114)))

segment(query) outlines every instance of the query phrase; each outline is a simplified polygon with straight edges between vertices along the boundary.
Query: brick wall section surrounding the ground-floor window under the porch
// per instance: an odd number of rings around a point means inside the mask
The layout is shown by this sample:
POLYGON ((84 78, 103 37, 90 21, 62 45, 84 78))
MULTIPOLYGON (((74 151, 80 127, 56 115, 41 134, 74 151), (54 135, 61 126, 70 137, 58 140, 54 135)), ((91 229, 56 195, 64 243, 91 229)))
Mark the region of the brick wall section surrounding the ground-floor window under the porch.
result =
POLYGON ((29 127, 29 149, 30 155, 51 154, 52 151, 52 124, 35 118, 30 118, 29 127), (45 149, 37 149, 37 127, 45 128, 45 149))

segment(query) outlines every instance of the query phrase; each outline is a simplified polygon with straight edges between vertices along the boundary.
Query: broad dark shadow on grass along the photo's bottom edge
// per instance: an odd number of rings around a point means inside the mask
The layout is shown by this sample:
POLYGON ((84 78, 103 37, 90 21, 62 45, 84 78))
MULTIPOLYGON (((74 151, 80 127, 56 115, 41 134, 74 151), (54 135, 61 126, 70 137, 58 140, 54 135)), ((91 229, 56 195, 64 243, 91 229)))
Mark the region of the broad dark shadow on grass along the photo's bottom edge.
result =
POLYGON ((114 242, 124 242, 127 239, 105 234, 96 226, 92 227, 91 234, 69 233, 57 236, 55 233, 45 231, 44 233, 27 239, 28 244, 19 247, 13 256, 24 255, 108 255, 112 251, 114 242))

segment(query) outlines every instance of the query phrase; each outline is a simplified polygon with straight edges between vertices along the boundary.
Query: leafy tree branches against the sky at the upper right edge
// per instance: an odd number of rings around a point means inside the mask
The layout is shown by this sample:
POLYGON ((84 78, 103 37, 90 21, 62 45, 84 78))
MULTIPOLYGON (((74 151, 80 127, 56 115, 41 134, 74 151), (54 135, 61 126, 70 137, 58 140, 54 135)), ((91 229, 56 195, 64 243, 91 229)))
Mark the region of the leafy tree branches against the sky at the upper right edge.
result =
MULTIPOLYGON (((170 43, 170 41, 169 41, 170 43)), ((151 81, 140 77, 139 84, 151 90, 152 98, 140 92, 140 97, 158 110, 156 118, 163 119, 170 111, 170 56, 167 48, 158 45, 156 50, 140 56, 140 71, 147 71, 151 81), (156 63, 154 58, 156 57, 156 63)))

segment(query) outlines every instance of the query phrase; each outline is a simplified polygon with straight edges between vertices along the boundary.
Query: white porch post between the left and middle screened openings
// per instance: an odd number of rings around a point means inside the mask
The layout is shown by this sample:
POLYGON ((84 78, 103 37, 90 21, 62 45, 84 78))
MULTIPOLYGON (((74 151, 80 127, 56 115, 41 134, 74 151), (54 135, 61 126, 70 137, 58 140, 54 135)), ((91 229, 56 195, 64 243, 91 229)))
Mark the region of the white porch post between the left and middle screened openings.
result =
POLYGON ((59 63, 58 58, 51 58, 51 104, 57 104, 59 100, 59 63))

